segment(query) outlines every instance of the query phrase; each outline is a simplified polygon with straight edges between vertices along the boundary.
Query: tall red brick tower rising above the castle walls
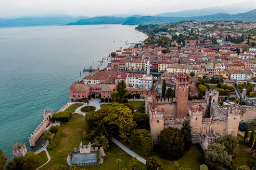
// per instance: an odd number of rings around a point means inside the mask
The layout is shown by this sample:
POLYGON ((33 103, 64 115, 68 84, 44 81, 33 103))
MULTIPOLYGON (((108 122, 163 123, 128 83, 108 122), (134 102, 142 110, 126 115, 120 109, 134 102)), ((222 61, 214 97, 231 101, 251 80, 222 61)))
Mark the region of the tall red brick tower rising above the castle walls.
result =
POLYGON ((189 84, 190 76, 186 73, 175 75, 176 116, 187 116, 189 84))

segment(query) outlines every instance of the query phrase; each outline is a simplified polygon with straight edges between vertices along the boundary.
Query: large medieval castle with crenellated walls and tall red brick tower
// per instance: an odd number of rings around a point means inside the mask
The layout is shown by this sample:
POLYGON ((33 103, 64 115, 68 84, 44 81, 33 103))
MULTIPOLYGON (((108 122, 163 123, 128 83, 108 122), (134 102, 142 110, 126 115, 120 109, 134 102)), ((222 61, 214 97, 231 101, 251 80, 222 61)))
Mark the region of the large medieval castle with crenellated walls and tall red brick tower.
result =
POLYGON ((187 120, 192 127, 193 143, 199 143, 203 149, 207 149, 208 144, 214 143, 217 137, 224 134, 237 136, 240 120, 256 119, 255 106, 229 103, 221 108, 217 103, 219 92, 214 89, 206 91, 204 100, 188 101, 190 76, 179 73, 174 78, 173 101, 156 100, 155 92, 146 96, 146 113, 154 144, 158 144, 158 135, 163 129, 169 126, 181 129, 187 120))

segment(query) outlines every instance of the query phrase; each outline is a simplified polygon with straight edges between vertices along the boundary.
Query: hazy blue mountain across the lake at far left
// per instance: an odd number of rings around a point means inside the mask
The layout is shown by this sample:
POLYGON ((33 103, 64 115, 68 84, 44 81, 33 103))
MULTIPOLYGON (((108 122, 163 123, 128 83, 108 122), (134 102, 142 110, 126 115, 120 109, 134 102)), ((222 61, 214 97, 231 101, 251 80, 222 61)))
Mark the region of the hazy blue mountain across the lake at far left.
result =
POLYGON ((0 27, 13 26, 38 26, 38 25, 62 25, 77 21, 71 16, 60 17, 21 17, 16 19, 0 19, 0 27))

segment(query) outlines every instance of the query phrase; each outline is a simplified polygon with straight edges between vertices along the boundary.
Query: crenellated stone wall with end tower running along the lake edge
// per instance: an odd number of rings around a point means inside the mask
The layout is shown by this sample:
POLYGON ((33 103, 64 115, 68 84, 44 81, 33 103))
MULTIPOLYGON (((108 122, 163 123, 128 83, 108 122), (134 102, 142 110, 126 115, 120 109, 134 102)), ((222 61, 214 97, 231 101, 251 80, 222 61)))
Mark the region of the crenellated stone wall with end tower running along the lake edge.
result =
POLYGON ((45 110, 43 112, 44 120, 36 127, 34 132, 29 137, 29 144, 31 147, 35 146, 36 141, 41 137, 45 132, 47 126, 50 123, 50 119, 53 117, 53 110, 45 110))

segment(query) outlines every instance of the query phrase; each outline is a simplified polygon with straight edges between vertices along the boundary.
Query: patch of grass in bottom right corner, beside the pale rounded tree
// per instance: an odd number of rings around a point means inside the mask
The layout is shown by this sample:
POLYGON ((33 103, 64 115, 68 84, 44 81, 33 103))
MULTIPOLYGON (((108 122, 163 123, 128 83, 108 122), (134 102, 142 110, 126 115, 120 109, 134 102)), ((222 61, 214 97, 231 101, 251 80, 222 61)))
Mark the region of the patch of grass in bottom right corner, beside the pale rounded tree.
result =
MULTIPOLYGON (((243 138, 240 134, 237 136, 243 138)), ((235 151, 237 152, 237 155, 236 158, 232 160, 235 166, 246 165, 250 168, 253 167, 254 159, 250 153, 251 148, 248 148, 244 143, 239 143, 235 151)))

